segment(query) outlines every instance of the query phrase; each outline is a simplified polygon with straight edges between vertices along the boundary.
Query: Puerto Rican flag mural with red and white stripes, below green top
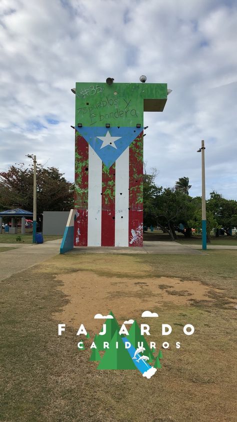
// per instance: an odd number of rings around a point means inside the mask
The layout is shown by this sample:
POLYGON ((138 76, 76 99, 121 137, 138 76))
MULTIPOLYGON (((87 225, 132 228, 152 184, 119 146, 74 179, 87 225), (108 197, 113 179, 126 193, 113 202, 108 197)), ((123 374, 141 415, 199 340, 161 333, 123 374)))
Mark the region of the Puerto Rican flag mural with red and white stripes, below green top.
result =
POLYGON ((142 246, 143 130, 75 127, 74 246, 142 246))

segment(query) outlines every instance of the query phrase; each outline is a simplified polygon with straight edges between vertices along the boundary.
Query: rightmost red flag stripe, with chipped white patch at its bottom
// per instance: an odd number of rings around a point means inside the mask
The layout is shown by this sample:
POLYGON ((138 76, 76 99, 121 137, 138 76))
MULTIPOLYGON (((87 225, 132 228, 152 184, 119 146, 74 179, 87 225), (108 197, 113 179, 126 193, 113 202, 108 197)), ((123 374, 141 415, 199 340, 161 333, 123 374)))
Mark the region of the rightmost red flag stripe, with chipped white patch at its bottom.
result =
POLYGON ((143 131, 129 146, 128 245, 143 244, 143 131))

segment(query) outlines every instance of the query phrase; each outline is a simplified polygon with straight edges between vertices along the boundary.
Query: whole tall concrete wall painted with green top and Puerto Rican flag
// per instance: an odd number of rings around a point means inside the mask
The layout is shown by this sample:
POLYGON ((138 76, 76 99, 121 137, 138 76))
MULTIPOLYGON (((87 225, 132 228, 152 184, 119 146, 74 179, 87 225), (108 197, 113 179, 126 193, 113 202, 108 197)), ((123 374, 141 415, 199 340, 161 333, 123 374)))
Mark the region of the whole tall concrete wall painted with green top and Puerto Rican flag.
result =
POLYGON ((166 84, 76 83, 75 246, 142 246, 143 111, 166 84))

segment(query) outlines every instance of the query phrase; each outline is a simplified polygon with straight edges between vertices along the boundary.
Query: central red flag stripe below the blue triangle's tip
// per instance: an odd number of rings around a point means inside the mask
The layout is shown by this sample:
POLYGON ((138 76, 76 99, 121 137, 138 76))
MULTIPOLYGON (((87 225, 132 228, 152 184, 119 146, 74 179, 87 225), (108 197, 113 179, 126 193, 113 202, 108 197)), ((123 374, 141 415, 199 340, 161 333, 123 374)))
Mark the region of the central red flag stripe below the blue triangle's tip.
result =
POLYGON ((115 238, 115 164, 102 163, 101 246, 114 246, 115 238))

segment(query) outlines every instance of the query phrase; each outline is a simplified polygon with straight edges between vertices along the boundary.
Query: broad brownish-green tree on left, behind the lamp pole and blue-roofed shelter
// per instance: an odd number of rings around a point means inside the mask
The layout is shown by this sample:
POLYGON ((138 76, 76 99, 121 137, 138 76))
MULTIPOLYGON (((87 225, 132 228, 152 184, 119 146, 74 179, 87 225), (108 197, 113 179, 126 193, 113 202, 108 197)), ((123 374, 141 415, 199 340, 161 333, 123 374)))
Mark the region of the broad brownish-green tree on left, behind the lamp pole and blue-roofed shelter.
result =
MULTIPOLYGON (((43 211, 68 211, 73 208, 73 184, 55 167, 37 164, 37 217, 43 211)), ((23 163, 0 173, 0 209, 23 208, 33 204, 33 166, 23 163)))

